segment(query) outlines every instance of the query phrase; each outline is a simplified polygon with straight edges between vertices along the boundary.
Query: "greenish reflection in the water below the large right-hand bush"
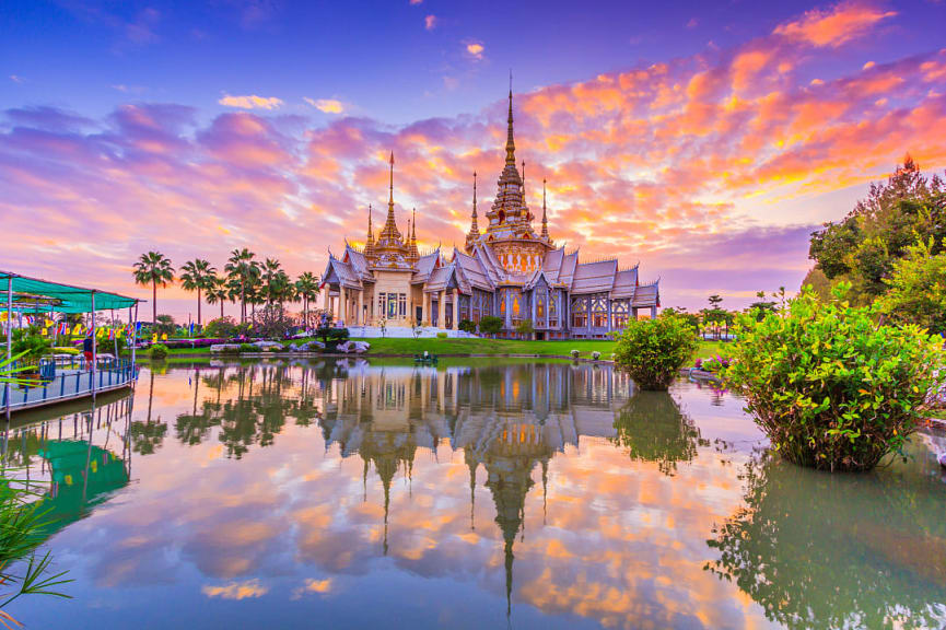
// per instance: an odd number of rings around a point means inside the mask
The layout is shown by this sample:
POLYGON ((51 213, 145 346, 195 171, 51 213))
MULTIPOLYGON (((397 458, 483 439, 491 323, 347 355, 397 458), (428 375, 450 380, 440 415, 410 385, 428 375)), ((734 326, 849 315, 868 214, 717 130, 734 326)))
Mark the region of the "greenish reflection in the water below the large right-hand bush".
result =
POLYGON ((826 475, 773 455, 747 466, 746 508, 708 569, 786 628, 930 628, 946 602, 946 521, 932 478, 826 475))

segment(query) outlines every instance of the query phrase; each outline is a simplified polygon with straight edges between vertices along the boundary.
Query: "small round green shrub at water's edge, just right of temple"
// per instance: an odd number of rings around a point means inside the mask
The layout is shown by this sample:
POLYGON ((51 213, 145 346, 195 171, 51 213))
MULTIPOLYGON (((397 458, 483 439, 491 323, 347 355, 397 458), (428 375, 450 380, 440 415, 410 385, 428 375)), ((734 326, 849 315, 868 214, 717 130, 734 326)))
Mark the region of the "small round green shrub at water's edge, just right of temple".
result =
POLYGON ((663 314, 631 319, 618 337, 615 363, 628 371, 641 389, 666 390, 680 368, 697 351, 697 337, 686 319, 663 314))

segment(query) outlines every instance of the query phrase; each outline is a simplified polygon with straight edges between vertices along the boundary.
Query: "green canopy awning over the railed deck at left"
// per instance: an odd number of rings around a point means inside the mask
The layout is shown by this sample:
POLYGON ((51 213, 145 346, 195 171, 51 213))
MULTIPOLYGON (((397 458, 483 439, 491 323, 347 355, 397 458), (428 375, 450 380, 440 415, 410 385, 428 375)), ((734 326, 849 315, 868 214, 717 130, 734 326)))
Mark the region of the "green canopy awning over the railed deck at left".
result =
POLYGON ((125 308, 133 306, 139 302, 136 298, 128 298, 100 289, 85 289, 73 287, 72 284, 62 284, 61 282, 40 280, 39 278, 28 278, 10 271, 0 271, 0 310, 4 310, 7 306, 5 293, 10 278, 13 279, 15 308, 24 312, 26 311, 26 304, 19 299, 21 295, 44 299, 42 306, 39 306, 39 312, 45 313, 49 313, 50 311, 55 311, 56 313, 89 313, 92 311, 93 294, 95 295, 95 311, 125 308))

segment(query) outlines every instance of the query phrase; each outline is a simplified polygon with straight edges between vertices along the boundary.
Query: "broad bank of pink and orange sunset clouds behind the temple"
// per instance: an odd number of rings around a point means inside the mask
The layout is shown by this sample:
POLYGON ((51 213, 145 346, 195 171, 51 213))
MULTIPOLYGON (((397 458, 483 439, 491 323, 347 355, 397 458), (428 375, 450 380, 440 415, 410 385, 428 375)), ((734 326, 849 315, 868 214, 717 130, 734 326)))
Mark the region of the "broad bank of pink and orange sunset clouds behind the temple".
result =
MULTIPOLYGON (((518 95, 530 207, 537 213, 547 178, 553 238, 588 257, 640 260, 645 276, 663 276, 668 304, 712 292, 688 267, 724 275, 712 284, 724 294, 774 288, 766 273, 797 287, 806 234, 845 213, 868 180, 907 151, 924 168, 946 165, 946 51, 810 80, 813 47, 863 37, 889 13, 840 4, 729 50, 518 95), (791 245, 774 246, 782 242, 791 245)), ((0 213, 22 237, 4 264, 126 292, 138 291, 131 261, 154 248, 177 265, 200 255, 222 267, 230 249, 248 246, 292 273, 319 272, 329 246, 364 237, 369 203, 382 220, 389 151, 401 228, 417 208, 422 245, 449 248, 464 240, 474 171, 481 207, 494 194, 505 108, 498 98, 401 127, 257 112, 203 122, 166 104, 127 104, 103 119, 9 109, 0 213)), ((176 288, 167 300, 188 303, 176 288)))

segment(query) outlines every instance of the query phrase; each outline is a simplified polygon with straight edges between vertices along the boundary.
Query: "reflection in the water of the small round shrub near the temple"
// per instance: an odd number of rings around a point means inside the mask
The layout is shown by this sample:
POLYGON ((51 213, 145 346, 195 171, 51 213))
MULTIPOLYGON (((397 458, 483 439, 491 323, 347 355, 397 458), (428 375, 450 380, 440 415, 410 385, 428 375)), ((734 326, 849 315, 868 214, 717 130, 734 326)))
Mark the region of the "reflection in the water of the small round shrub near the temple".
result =
POLYGON ((698 445, 709 445, 666 392, 634 394, 615 418, 615 429, 614 442, 627 448, 631 459, 656 462, 664 475, 673 475, 677 462, 692 460, 698 445))

